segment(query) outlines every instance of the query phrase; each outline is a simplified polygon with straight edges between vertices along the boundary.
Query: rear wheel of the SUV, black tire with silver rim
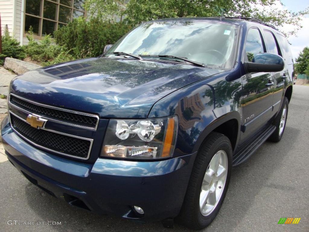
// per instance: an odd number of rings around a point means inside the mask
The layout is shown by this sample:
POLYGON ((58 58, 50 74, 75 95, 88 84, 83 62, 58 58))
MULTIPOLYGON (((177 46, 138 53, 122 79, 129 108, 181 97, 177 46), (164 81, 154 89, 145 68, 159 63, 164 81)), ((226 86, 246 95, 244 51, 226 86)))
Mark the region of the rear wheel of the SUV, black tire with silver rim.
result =
POLYGON ((272 123, 274 126, 276 126, 276 130, 273 132, 272 135, 270 135, 268 139, 269 141, 279 142, 281 140, 282 135, 284 133, 284 129, 286 128, 286 119, 288 116, 288 111, 289 111, 289 100, 286 97, 284 97, 279 113, 272 123))

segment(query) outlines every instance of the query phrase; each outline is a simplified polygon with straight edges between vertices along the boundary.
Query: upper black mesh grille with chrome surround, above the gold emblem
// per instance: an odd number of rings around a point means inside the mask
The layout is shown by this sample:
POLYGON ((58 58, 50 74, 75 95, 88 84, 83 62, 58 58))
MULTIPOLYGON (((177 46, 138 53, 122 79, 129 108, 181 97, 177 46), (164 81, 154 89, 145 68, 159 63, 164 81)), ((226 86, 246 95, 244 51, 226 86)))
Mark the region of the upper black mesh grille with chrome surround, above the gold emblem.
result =
POLYGON ((63 122, 77 127, 86 127, 96 130, 99 117, 93 114, 83 112, 73 112, 71 110, 61 109, 58 107, 44 105, 38 102, 30 101, 14 94, 10 95, 10 104, 28 113, 38 114, 45 118, 63 122))

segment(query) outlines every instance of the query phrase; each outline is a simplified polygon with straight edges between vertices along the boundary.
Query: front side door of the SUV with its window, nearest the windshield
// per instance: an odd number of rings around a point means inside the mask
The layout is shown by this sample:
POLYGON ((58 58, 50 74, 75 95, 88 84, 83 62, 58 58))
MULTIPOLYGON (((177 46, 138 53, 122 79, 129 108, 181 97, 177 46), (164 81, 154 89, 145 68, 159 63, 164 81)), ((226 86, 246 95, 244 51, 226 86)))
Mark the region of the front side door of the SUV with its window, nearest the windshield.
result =
MULTIPOLYGON (((265 45, 259 28, 250 28, 246 37, 245 58, 254 62, 254 55, 264 53, 265 45)), ((249 73, 242 77, 243 111, 240 143, 254 135, 271 118, 273 105, 272 73, 249 73)))

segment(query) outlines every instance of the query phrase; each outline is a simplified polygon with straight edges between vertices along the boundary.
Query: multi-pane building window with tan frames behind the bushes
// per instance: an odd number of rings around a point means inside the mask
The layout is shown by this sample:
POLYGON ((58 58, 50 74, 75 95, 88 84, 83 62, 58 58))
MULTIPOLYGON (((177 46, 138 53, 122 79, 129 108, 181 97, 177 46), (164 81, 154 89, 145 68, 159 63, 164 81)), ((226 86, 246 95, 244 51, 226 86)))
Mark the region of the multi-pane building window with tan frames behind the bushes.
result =
POLYGON ((86 16, 85 0, 26 0, 25 30, 32 26, 33 35, 40 38, 67 25, 72 19, 86 16))

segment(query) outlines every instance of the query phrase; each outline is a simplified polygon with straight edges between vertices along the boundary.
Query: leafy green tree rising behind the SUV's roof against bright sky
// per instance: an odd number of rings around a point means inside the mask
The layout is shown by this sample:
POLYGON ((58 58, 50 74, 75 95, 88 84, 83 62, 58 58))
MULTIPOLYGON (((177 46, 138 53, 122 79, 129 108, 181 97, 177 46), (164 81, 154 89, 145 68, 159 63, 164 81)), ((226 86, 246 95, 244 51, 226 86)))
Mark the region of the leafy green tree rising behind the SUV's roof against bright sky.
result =
POLYGON ((125 21, 135 26, 153 19, 220 16, 223 12, 225 16, 258 18, 277 27, 291 24, 293 29, 285 33, 294 34, 301 28, 301 16, 308 14, 308 8, 296 13, 276 7, 270 10, 275 3, 282 4, 279 0, 130 0, 125 21))

